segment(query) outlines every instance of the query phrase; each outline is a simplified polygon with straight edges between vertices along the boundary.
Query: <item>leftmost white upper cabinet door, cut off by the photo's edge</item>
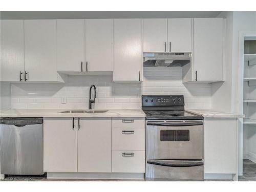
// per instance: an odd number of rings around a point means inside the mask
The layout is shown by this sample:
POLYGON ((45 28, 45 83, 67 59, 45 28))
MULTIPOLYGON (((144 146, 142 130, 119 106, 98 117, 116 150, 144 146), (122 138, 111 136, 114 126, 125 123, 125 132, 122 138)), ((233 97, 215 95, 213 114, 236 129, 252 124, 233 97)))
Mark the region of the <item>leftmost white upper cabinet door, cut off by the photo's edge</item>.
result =
POLYGON ((1 81, 20 81, 20 72, 24 73, 24 20, 1 20, 1 81))

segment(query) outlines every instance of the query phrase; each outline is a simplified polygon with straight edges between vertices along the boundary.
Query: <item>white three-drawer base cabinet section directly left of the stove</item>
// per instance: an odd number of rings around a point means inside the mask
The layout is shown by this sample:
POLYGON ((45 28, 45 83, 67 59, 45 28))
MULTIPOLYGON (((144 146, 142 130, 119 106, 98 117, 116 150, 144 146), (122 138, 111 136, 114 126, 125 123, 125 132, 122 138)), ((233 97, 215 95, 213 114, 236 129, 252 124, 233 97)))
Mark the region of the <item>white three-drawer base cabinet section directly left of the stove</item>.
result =
POLYGON ((144 118, 112 118, 112 172, 145 173, 144 118))

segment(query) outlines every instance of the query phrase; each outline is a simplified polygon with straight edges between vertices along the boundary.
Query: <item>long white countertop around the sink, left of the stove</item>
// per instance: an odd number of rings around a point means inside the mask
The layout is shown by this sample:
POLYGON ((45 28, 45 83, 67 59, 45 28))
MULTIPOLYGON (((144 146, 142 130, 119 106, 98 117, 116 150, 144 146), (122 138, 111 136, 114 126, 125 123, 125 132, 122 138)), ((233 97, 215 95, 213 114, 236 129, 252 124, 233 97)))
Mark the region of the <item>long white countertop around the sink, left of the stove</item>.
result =
POLYGON ((69 110, 72 109, 11 109, 1 111, 0 117, 145 117, 140 109, 110 109, 105 113, 60 113, 69 110))

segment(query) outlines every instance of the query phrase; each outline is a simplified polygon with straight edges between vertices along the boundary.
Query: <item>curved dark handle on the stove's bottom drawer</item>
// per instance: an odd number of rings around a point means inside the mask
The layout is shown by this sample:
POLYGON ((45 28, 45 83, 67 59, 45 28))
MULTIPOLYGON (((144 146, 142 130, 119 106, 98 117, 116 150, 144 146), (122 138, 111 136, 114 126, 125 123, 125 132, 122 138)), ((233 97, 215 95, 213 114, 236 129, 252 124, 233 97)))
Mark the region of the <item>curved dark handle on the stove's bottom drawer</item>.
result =
POLYGON ((167 166, 167 167, 194 167, 194 166, 202 166, 204 165, 203 161, 193 161, 191 163, 171 163, 173 161, 170 161, 170 163, 157 161, 157 160, 147 160, 148 164, 153 165, 161 165, 161 166, 167 166))

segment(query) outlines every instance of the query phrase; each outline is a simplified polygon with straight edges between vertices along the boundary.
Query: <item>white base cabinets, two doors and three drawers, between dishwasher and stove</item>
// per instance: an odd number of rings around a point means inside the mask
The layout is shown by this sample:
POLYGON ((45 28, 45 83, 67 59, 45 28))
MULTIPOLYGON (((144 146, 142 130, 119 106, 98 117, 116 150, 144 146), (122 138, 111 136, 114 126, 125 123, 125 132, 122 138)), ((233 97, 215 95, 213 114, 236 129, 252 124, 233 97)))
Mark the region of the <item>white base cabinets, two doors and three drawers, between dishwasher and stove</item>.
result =
POLYGON ((144 122, 144 118, 44 118, 44 171, 144 173, 144 122), (119 128, 111 128, 113 122, 119 128))

